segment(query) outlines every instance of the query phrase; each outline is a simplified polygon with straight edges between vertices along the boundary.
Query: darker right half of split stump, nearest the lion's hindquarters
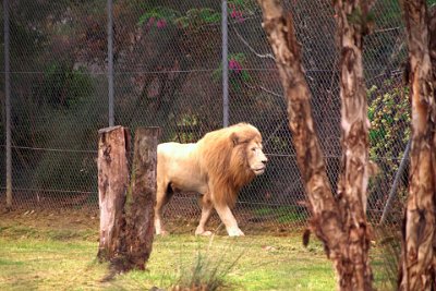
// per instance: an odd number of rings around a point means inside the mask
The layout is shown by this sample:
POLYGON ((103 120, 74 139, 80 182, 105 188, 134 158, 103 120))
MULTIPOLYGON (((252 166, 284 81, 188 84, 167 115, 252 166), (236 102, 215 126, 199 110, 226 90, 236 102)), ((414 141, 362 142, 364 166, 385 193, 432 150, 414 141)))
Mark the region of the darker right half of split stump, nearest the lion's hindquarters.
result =
POLYGON ((128 202, 125 269, 145 269, 152 253, 155 226, 157 144, 160 128, 137 129, 133 157, 132 196, 128 202))

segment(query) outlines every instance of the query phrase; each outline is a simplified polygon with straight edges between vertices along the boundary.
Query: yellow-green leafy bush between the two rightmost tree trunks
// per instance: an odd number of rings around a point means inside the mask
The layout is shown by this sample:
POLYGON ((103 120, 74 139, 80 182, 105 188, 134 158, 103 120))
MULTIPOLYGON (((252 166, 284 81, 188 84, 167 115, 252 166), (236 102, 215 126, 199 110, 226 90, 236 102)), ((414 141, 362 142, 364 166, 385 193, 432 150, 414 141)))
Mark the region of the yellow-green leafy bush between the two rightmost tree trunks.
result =
POLYGON ((410 138, 409 88, 386 81, 382 88, 367 90, 370 106, 370 157, 377 159, 387 174, 397 171, 410 138))

